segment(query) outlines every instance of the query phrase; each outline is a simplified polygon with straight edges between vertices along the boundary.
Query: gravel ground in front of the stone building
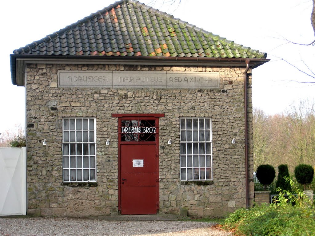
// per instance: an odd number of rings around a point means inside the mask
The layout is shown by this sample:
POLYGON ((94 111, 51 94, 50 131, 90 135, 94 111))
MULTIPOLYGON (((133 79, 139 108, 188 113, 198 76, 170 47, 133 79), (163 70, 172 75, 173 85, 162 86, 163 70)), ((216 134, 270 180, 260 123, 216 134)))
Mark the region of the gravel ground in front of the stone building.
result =
POLYGON ((209 222, 106 221, 77 218, 0 218, 1 236, 228 236, 209 222))

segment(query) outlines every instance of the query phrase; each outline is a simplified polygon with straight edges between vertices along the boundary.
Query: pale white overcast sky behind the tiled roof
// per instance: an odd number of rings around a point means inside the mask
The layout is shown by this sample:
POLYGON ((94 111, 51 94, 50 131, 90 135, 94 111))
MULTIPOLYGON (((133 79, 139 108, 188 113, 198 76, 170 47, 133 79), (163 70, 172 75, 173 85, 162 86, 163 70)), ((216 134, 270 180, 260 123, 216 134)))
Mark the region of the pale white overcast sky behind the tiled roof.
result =
MULTIPOLYGON (((307 71, 307 65, 315 71, 315 46, 300 46, 284 40, 305 44, 313 41, 311 0, 182 0, 180 5, 169 1, 140 2, 235 43, 267 53, 271 61, 252 71, 254 107, 272 115, 283 112, 298 100, 314 99, 315 85, 292 80, 315 80, 277 58, 284 58, 302 70, 307 71)), ((25 120, 24 87, 11 83, 9 54, 114 2, 32 0, 8 1, 2 5, 0 133, 17 123, 24 126, 25 120)))

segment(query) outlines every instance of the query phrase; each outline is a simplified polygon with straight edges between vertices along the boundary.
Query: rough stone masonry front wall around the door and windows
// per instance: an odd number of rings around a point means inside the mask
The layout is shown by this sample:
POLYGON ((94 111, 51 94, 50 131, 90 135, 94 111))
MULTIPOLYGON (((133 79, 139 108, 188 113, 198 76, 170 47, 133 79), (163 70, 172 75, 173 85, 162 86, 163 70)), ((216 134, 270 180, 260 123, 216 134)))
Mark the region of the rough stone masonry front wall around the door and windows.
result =
MULTIPOLYGON (((26 68, 28 214, 118 214, 117 118, 113 113, 164 113, 159 118, 160 213, 221 217, 245 206, 244 69, 140 65, 32 64, 26 68), (57 70, 219 71, 220 89, 60 88, 57 70), (62 183, 62 118, 96 117, 97 186, 62 183), (180 181, 179 117, 211 117, 213 184, 180 181), (111 144, 105 142, 110 139, 111 144), (172 145, 167 145, 172 138, 172 145), (231 140, 235 138, 235 144, 231 140), (43 146, 43 139, 47 145, 43 146)), ((249 173, 252 175, 251 78, 248 84, 249 173)), ((249 196, 254 185, 250 178, 249 196)))

